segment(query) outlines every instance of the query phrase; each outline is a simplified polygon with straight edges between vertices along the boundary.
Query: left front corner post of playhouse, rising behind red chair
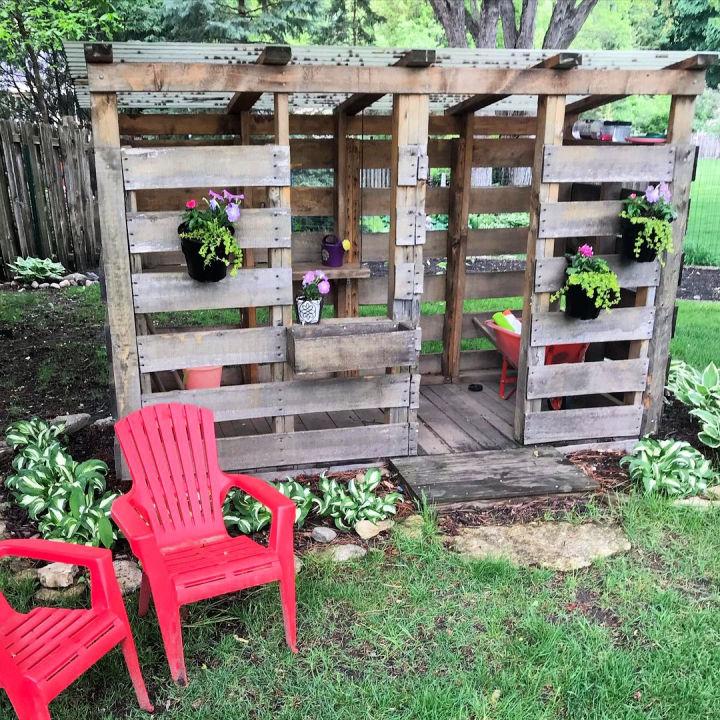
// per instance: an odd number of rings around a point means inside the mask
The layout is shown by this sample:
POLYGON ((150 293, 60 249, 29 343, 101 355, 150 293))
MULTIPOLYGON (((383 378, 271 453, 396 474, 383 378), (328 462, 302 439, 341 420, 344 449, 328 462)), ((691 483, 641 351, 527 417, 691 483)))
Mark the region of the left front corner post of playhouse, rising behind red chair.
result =
POLYGON ((140 408, 140 368, 125 206, 118 202, 118 199, 123 197, 124 187, 120 163, 117 95, 91 93, 90 107, 115 407, 117 417, 123 417, 140 408))

